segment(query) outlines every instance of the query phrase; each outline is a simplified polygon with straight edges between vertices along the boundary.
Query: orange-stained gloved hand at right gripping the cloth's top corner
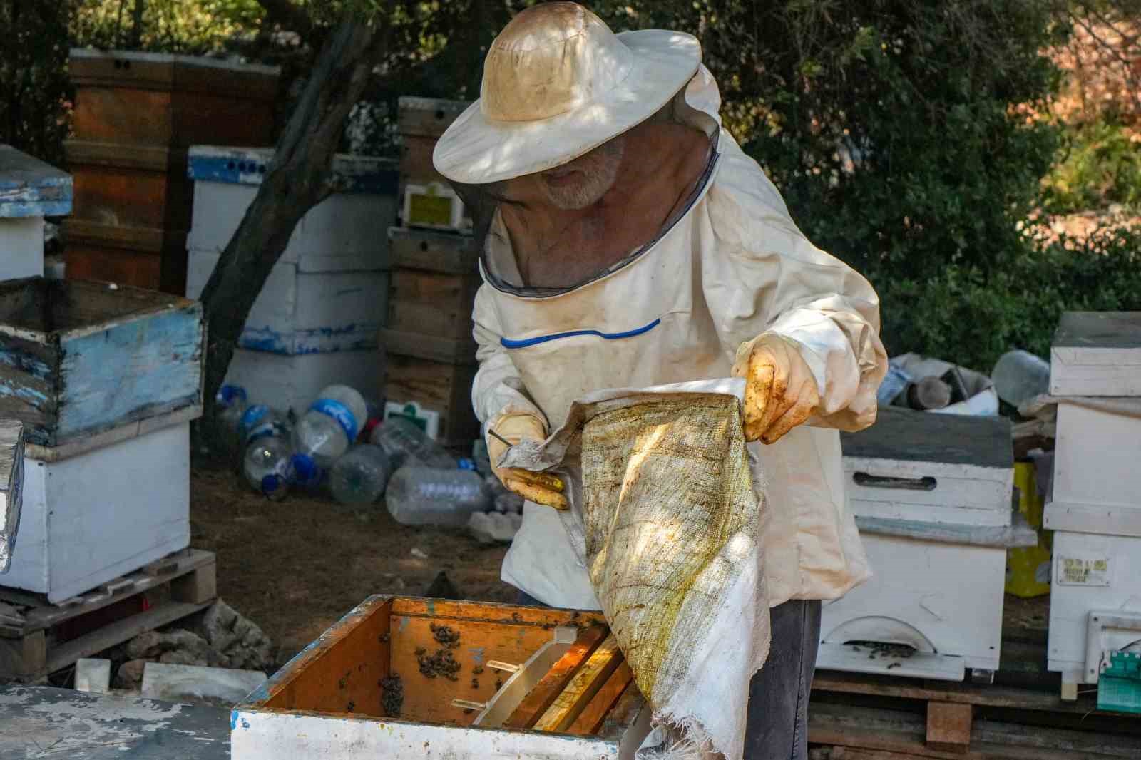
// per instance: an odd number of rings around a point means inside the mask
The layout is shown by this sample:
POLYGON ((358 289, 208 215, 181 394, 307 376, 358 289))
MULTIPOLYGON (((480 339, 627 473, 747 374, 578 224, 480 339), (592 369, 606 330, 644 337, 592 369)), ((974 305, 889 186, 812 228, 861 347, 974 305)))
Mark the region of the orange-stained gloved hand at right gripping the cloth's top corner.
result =
POLYGON ((733 377, 745 378, 745 439, 771 444, 820 404, 816 377, 799 343, 771 332, 742 343, 733 377))

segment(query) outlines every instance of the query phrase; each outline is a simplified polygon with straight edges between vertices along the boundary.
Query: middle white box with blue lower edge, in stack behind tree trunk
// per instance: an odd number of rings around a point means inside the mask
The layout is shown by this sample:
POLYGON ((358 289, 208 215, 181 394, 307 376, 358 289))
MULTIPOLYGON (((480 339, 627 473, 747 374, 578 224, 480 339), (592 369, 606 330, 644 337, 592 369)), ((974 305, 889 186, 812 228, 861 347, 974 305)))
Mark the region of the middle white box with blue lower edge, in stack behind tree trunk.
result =
MULTIPOLYGON (((189 251, 186 296, 197 298, 219 253, 189 251)), ((278 261, 261 288, 238 346, 275 354, 375 349, 388 314, 388 273, 305 272, 278 261)))

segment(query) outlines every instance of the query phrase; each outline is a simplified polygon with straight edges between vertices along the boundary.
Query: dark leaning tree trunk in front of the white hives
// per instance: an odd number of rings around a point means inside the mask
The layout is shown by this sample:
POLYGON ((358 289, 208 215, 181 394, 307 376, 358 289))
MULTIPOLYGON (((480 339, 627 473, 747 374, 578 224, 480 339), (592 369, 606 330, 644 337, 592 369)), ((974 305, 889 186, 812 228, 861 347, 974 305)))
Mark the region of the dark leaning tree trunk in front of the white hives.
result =
MULTIPOLYGON (((293 227, 335 191, 330 173, 333 154, 385 46, 388 22, 378 14, 375 23, 383 29, 346 16, 326 39, 258 194, 202 290, 208 325, 203 425, 208 431, 213 427, 215 395, 254 299, 293 227)), ((256 388, 250 390, 257 396, 256 388)))

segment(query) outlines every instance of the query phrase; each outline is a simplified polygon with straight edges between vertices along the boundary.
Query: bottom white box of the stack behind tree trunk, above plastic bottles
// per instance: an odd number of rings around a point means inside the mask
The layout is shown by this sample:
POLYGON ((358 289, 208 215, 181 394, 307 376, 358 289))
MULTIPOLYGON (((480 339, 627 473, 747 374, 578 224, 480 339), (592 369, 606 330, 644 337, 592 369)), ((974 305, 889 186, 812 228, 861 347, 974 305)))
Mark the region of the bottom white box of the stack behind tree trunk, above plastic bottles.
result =
POLYGON ((322 388, 350 386, 365 398, 379 398, 385 378, 385 350, 338 351, 285 356, 237 349, 229 363, 226 382, 246 389, 251 403, 301 414, 322 388))

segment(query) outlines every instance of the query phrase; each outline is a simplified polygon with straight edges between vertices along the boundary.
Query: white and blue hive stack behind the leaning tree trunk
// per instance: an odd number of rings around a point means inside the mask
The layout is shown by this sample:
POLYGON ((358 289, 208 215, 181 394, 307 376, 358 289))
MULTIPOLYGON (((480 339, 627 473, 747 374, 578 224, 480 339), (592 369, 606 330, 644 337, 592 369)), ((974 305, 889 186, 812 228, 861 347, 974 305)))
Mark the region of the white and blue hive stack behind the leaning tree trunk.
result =
MULTIPOLYGON (((242 223, 273 151, 194 146, 186 294, 197 298, 242 223)), ((227 374, 259 403, 302 413, 325 386, 371 391, 383 366, 377 331, 389 288, 396 162, 338 155, 338 192, 310 209, 261 288, 227 374)))

